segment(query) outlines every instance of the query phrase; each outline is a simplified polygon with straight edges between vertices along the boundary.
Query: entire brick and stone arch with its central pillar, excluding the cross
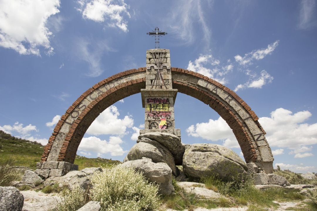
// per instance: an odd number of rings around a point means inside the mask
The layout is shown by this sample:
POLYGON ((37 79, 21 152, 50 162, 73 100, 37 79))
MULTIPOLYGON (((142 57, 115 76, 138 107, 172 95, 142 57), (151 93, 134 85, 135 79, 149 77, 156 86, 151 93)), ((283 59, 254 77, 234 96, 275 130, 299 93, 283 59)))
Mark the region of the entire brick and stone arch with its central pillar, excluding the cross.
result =
POLYGON ((173 107, 177 92, 181 92, 209 105, 228 123, 246 163, 255 163, 259 173, 272 173, 273 155, 254 111, 234 91, 217 81, 171 67, 168 49, 147 50, 146 67, 120 72, 85 91, 56 124, 44 147, 41 165, 55 163, 50 168, 55 168, 51 176, 67 173, 82 137, 95 118, 113 103, 140 92, 146 126, 140 133, 167 132, 180 137, 180 130, 174 128, 173 107))

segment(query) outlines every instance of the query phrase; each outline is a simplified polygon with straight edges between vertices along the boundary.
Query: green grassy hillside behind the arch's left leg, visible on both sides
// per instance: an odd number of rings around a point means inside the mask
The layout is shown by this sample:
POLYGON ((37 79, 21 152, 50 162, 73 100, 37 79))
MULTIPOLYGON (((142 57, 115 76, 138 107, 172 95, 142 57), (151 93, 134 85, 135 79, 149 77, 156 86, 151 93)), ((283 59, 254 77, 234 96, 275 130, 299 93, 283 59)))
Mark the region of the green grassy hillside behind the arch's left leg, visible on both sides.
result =
MULTIPOLYGON (((0 130, 0 160, 12 158, 14 165, 27 166, 36 169, 36 163, 40 162, 43 148, 40 143, 19 139, 0 130)), ((74 164, 77 164, 79 170, 86 167, 99 167, 100 165, 109 166, 118 164, 118 160, 109 160, 104 158, 86 158, 76 155, 74 164)))

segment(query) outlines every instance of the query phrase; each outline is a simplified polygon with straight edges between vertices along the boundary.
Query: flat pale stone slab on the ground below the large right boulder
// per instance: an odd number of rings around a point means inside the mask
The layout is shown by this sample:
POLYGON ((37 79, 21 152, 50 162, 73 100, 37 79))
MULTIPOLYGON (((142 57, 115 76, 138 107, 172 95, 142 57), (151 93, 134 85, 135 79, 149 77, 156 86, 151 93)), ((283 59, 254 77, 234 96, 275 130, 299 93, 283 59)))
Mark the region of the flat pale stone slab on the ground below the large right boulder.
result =
POLYGON ((193 183, 193 182, 179 182, 177 183, 180 187, 184 188, 187 193, 195 193, 199 196, 205 198, 219 198, 221 197, 220 193, 217 193, 213 190, 205 188, 205 185, 202 183, 193 183))

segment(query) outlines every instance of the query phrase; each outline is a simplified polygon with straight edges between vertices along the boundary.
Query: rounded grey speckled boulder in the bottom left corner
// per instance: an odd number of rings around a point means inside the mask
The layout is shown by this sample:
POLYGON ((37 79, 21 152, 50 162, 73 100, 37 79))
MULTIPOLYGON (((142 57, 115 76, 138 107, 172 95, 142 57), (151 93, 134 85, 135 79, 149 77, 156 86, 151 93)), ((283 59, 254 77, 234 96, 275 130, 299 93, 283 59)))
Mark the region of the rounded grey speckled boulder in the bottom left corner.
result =
POLYGON ((0 210, 21 211, 24 197, 15 187, 0 187, 0 210))

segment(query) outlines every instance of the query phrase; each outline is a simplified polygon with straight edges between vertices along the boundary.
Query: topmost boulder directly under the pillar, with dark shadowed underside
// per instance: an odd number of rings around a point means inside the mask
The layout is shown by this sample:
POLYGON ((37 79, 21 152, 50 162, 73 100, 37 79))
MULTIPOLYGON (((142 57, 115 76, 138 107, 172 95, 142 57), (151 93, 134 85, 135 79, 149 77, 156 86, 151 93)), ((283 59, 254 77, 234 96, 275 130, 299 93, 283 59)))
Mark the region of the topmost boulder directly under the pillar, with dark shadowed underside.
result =
POLYGON ((183 155, 185 147, 183 146, 180 138, 171 133, 144 133, 139 135, 138 141, 142 139, 151 139, 159 142, 161 145, 165 146, 173 155, 176 165, 181 165, 183 162, 183 155))

